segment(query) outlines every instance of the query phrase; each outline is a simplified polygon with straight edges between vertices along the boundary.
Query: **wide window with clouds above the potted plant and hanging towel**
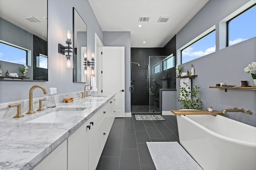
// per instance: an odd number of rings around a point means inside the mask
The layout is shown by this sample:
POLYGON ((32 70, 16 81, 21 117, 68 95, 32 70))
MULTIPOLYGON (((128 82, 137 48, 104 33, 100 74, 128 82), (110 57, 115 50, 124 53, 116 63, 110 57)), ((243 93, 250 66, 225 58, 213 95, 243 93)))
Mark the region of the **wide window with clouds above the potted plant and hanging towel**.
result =
POLYGON ((198 39, 191 45, 181 50, 182 63, 197 59, 204 55, 215 52, 216 33, 215 30, 198 39))

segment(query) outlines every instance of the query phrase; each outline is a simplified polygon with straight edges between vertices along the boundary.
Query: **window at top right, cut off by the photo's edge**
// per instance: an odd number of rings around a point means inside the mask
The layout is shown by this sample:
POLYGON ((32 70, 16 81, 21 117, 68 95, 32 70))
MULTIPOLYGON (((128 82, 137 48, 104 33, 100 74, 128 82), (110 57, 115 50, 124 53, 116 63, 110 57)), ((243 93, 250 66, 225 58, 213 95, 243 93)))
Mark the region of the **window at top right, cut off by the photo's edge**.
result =
POLYGON ((255 16, 254 5, 227 22, 227 47, 256 37, 255 16))

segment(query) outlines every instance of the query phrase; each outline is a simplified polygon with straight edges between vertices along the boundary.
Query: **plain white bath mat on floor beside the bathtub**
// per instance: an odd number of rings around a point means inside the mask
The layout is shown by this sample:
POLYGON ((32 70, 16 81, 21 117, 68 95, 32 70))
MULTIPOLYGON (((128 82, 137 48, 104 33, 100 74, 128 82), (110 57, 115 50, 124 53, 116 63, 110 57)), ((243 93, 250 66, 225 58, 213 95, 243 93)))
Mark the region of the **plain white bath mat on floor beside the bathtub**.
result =
POLYGON ((202 170, 178 142, 146 142, 157 170, 202 170))

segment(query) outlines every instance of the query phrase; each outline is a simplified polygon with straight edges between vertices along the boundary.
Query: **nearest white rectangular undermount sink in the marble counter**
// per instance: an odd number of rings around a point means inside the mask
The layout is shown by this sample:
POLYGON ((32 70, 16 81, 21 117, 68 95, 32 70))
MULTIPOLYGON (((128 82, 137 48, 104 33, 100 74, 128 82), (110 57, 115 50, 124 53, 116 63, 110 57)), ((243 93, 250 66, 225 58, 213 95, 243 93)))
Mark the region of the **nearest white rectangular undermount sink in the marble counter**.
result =
POLYGON ((26 123, 62 123, 74 117, 74 113, 81 112, 84 109, 86 108, 60 108, 59 110, 52 111, 46 115, 26 121, 26 123))

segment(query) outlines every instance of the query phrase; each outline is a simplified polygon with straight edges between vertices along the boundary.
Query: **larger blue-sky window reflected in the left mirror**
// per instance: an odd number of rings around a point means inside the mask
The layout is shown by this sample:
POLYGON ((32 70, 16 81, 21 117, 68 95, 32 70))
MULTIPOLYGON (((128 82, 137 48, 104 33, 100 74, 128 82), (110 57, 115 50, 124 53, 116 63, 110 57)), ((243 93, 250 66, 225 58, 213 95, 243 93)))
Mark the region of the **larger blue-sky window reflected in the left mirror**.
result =
POLYGON ((0 60, 27 65, 27 51, 25 49, 0 42, 0 60))

